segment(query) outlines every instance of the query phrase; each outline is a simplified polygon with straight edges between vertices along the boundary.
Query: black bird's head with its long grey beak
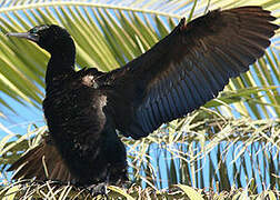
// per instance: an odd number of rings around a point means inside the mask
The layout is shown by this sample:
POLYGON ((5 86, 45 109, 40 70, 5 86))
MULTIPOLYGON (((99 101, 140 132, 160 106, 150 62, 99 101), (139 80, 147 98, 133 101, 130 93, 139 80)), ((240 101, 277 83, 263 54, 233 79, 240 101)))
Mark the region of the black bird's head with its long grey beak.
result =
POLYGON ((59 47, 69 42, 69 40, 72 40, 66 29, 56 24, 37 26, 28 32, 10 32, 7 36, 33 41, 50 53, 56 49, 59 50, 59 47))

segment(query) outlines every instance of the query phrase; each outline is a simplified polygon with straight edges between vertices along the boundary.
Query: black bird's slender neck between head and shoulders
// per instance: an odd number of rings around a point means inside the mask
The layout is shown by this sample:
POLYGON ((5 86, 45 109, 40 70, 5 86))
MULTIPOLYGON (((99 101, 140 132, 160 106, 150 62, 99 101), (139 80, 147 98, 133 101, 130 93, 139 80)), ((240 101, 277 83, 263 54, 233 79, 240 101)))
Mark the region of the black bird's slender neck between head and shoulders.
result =
POLYGON ((72 39, 69 38, 68 41, 57 44, 50 53, 51 58, 46 72, 47 88, 74 73, 76 48, 72 39))

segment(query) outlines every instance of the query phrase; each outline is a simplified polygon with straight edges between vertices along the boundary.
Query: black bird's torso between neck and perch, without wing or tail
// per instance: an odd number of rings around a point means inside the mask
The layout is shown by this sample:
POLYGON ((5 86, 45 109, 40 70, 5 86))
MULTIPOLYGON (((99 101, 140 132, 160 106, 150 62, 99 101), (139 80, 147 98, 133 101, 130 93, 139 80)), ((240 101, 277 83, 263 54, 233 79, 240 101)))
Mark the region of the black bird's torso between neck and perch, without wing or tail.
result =
POLYGON ((57 79, 48 86, 43 101, 50 136, 82 184, 104 181, 108 170, 114 169, 112 163, 126 171, 126 149, 116 133, 113 111, 108 109, 110 87, 99 77, 81 70, 57 79))

